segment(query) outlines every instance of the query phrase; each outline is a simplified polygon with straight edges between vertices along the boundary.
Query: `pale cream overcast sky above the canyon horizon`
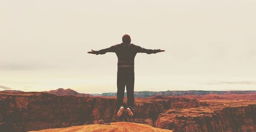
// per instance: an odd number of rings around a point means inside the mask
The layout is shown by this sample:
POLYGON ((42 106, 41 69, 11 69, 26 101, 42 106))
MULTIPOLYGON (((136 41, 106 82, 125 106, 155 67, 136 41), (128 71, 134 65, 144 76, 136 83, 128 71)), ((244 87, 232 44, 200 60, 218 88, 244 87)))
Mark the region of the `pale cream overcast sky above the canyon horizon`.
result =
POLYGON ((0 0, 0 91, 116 92, 121 42, 135 58, 135 91, 256 90, 255 0, 0 0))

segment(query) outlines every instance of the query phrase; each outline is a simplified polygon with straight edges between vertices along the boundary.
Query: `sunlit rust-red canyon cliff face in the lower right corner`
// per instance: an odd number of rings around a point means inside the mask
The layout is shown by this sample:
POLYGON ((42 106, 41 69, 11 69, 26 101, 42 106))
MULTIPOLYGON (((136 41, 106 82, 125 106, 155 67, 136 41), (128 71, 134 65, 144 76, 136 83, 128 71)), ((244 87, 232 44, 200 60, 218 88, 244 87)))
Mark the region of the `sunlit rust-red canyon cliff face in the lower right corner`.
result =
MULTIPOLYGON (((173 131, 255 131, 256 104, 227 107, 217 111, 201 111, 183 114, 172 109, 159 115, 155 126, 173 131)), ((189 113, 189 109, 187 112, 189 113)))

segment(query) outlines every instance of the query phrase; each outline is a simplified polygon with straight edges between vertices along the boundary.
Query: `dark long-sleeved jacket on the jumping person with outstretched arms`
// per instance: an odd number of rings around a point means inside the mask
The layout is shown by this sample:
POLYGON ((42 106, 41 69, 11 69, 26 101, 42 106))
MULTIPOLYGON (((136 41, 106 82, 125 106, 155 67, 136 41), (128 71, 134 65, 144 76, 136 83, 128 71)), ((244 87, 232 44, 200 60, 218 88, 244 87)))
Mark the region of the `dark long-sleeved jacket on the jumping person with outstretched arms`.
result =
POLYGON ((110 48, 97 51, 97 54, 105 54, 106 52, 115 52, 118 58, 117 67, 134 69, 134 58, 137 53, 155 54, 157 50, 144 49, 133 43, 120 43, 110 48))

